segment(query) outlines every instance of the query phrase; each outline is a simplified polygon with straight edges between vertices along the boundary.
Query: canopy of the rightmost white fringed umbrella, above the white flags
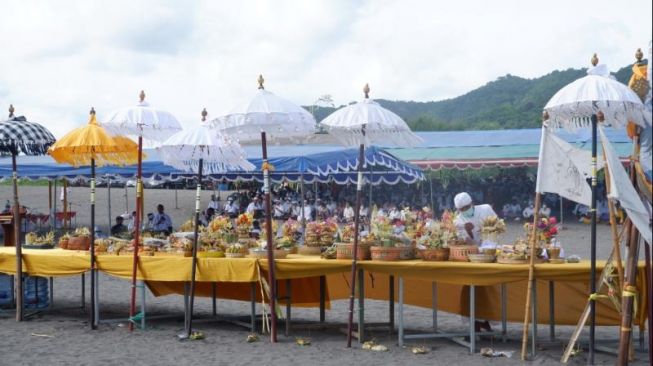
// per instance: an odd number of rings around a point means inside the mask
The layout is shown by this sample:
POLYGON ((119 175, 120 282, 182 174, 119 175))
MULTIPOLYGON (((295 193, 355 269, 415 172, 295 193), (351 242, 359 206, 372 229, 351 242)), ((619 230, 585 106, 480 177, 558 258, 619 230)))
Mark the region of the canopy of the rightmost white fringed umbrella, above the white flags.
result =
POLYGON ((651 123, 651 114, 626 85, 614 80, 606 65, 597 65, 596 54, 587 76, 560 89, 546 104, 544 111, 552 127, 577 129, 587 127, 590 117, 601 111, 605 122, 624 127, 628 121, 640 126, 651 123))

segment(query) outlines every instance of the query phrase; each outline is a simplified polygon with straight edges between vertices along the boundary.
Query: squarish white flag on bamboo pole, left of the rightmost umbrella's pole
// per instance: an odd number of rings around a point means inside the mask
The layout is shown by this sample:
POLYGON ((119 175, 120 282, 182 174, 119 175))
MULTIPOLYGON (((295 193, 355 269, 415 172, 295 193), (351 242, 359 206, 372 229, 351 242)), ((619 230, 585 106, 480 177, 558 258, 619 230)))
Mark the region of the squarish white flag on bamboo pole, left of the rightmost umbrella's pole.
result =
POLYGON ((591 205, 592 190, 586 179, 591 173, 592 154, 577 149, 542 126, 537 162, 538 193, 556 193, 568 200, 591 205))

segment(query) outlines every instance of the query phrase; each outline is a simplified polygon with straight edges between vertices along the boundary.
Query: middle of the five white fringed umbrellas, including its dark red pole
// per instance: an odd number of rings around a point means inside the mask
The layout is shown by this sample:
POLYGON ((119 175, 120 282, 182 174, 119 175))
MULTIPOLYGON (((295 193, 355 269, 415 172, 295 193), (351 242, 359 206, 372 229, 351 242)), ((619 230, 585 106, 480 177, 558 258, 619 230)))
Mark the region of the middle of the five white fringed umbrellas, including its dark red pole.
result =
POLYGON ((272 242, 270 208, 270 165, 267 141, 282 144, 305 141, 315 133, 315 118, 304 108, 265 90, 262 75, 258 77, 258 91, 253 98, 213 121, 222 133, 236 137, 240 143, 260 142, 263 149, 263 193, 265 195, 265 225, 268 251, 268 281, 270 285, 270 340, 277 341, 276 278, 272 242))

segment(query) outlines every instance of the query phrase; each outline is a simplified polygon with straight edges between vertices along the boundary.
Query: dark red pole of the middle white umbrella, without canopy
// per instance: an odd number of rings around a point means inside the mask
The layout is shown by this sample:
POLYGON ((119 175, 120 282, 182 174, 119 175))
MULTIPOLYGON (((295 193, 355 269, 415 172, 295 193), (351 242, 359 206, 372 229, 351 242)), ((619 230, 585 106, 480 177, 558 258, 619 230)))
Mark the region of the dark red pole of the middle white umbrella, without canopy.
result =
MULTIPOLYGON (((270 202, 270 172, 268 167, 268 147, 265 132, 261 132, 263 148, 263 193, 265 195, 265 240, 268 249, 268 282, 270 284, 270 341, 277 342, 277 284, 274 275, 274 248, 272 243, 272 215, 270 202)), ((288 321, 288 320, 286 320, 288 321)))

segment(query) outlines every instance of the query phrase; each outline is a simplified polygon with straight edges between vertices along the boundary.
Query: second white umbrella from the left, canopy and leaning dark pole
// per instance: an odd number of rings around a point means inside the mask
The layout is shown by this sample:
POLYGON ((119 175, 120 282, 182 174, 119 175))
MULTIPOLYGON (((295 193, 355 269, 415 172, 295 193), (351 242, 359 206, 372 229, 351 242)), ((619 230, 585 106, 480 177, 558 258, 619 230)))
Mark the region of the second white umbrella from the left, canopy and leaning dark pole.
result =
POLYGON ((159 147, 164 164, 184 171, 197 173, 190 302, 187 309, 188 313, 186 314, 186 329, 185 333, 181 335, 181 338, 190 337, 193 325, 202 174, 223 173, 228 170, 254 169, 254 164, 245 159, 245 152, 236 140, 223 135, 215 129, 211 129, 205 123, 207 115, 206 109, 202 110, 202 123, 199 127, 177 132, 159 147))

